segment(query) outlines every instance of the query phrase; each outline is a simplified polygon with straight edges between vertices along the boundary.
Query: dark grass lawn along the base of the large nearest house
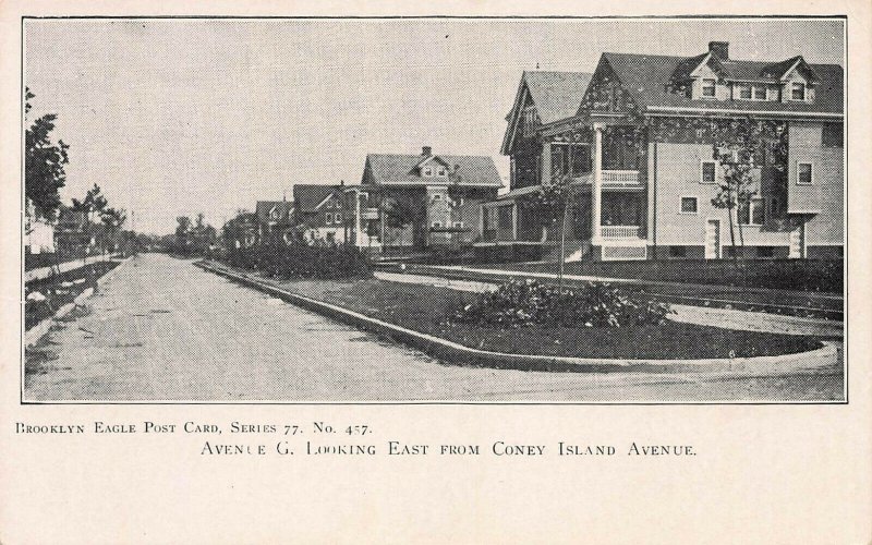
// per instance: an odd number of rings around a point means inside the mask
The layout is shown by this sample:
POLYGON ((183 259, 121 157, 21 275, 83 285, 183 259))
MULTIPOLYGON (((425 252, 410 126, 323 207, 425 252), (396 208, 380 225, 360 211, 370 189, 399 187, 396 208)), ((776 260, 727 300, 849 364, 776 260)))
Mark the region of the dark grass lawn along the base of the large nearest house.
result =
MULTIPOLYGON (((554 263, 504 264, 507 270, 556 272, 554 263)), ((840 259, 740 259, 738 268, 729 259, 573 262, 567 275, 632 278, 687 283, 771 288, 812 292, 843 292, 840 259)))

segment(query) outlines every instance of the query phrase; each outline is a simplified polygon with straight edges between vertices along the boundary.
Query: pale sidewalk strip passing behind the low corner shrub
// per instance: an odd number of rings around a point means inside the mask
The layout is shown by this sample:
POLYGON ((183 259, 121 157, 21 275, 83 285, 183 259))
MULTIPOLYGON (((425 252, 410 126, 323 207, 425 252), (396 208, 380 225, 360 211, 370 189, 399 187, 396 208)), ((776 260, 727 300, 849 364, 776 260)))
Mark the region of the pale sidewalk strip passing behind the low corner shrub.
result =
MULTIPOLYGON (((477 280, 458 280, 437 276, 417 275, 413 272, 376 271, 376 278, 393 282, 422 283, 440 286, 459 291, 482 292, 494 289, 496 282, 477 280)), ((541 276, 541 274, 540 274, 541 276)), ((546 278, 555 278, 553 275, 546 278)), ((843 338, 845 324, 841 322, 784 316, 763 312, 736 311, 682 304, 670 305, 676 314, 669 319, 700 326, 723 327, 740 331, 763 331, 771 334, 809 335, 814 337, 843 338)))

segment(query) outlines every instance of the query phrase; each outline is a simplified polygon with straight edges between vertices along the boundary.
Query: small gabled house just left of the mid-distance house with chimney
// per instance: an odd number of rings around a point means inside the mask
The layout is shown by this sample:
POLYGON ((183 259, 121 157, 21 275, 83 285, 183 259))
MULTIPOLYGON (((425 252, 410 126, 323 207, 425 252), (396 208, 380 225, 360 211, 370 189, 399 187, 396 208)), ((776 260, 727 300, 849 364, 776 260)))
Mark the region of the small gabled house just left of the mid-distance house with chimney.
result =
POLYGON ((342 244, 347 239, 344 192, 340 185, 295 184, 294 225, 307 242, 342 244))

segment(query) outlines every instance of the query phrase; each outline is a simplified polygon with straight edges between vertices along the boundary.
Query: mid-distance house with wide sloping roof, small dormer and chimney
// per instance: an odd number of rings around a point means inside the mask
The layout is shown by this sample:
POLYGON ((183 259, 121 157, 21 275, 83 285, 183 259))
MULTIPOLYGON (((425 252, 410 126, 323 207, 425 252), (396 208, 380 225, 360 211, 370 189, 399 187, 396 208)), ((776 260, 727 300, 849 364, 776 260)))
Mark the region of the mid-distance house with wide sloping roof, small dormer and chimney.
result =
POLYGON ((491 157, 370 154, 360 185, 346 187, 349 235, 358 245, 416 249, 481 238, 481 205, 502 181, 491 157))

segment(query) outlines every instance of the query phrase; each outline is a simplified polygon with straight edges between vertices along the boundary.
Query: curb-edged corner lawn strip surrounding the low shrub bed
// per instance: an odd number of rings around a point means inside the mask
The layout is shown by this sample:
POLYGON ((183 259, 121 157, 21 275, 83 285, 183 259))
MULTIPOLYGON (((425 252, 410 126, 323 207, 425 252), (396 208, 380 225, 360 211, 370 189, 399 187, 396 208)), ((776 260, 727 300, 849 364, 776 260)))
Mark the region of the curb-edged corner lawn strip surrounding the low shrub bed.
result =
MULTIPOLYGON (((220 264, 213 264, 225 267, 220 264)), ((239 270, 239 269, 237 269, 239 270)), ((662 326, 513 329, 457 323, 448 316, 475 294, 384 280, 267 280, 269 283, 384 322, 470 348, 517 354, 622 359, 705 359, 777 355, 821 347, 807 337, 732 331, 666 322, 662 326)))

